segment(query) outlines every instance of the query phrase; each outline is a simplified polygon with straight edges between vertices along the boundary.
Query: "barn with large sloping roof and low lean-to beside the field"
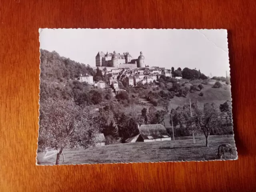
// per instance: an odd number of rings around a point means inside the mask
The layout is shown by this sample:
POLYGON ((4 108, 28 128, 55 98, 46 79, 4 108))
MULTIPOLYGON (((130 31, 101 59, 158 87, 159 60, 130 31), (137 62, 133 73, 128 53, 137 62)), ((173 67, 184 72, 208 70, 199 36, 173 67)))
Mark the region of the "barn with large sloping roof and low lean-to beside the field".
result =
POLYGON ((128 138, 126 142, 152 142, 171 140, 171 136, 167 133, 166 128, 162 124, 141 125, 140 134, 128 138))

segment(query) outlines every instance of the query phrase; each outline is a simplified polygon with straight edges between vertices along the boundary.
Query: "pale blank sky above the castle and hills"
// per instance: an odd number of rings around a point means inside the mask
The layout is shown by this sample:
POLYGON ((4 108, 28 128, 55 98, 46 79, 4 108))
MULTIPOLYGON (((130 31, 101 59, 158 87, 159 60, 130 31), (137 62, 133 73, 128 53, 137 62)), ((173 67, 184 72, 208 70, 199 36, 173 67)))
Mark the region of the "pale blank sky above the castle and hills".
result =
POLYGON ((196 68, 206 76, 230 73, 226 30, 178 29, 39 29, 40 48, 95 66, 99 51, 135 59, 142 51, 145 64, 175 70, 196 68))

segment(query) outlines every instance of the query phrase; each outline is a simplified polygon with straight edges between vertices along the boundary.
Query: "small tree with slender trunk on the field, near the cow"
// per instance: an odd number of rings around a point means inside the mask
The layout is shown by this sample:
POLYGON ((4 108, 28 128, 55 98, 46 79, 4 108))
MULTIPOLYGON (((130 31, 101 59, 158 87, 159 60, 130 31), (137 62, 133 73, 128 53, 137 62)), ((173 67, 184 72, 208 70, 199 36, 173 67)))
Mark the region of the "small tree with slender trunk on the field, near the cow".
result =
POLYGON ((205 103, 201 109, 198 105, 194 106, 193 122, 196 128, 202 132, 206 138, 206 146, 209 146, 208 138, 211 133, 218 132, 220 118, 218 107, 215 103, 205 103))

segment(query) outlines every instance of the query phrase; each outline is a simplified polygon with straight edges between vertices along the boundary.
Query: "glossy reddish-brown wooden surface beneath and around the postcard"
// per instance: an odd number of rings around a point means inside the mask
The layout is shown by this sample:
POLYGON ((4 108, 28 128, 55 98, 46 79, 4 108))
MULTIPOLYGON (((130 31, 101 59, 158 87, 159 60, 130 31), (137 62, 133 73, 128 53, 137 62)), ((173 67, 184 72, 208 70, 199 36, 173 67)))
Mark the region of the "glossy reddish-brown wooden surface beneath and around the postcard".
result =
POLYGON ((255 191, 256 2, 1 0, 1 191, 255 191), (38 28, 226 28, 238 160, 36 166, 38 28))

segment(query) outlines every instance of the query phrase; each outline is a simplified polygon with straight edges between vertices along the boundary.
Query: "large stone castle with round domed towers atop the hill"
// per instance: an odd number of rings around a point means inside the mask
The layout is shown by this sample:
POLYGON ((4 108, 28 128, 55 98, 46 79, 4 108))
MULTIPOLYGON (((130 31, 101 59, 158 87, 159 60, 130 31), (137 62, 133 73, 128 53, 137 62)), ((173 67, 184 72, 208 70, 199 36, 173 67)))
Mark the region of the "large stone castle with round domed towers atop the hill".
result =
POLYGON ((142 68, 145 67, 146 64, 144 63, 145 57, 140 52, 140 56, 138 59, 133 59, 129 52, 120 54, 116 53, 108 53, 105 54, 104 52, 98 52, 95 57, 96 60, 96 67, 118 67, 118 68, 142 68))

